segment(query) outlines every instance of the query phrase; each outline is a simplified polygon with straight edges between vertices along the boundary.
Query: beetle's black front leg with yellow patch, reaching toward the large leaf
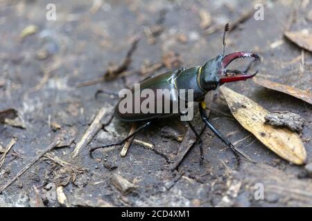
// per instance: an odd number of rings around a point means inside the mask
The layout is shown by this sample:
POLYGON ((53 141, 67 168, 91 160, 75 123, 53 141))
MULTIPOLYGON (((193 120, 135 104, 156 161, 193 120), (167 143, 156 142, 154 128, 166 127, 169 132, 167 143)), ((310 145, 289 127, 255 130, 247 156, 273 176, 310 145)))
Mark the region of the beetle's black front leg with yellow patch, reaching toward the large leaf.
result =
POLYGON ((234 146, 234 144, 232 144, 229 140, 227 140, 226 137, 224 137, 222 135, 222 133, 220 133, 220 131, 218 131, 218 129, 216 129, 212 124, 210 124, 207 114, 205 113, 204 110, 204 106, 205 106, 205 102, 200 102, 199 105, 199 111, 200 111, 200 117, 202 117, 202 122, 204 122, 209 129, 225 144, 227 144, 227 146, 229 146, 229 148, 231 148, 231 150, 233 151, 234 155, 237 158, 238 161, 238 165, 241 162, 241 157, 239 157, 239 154, 242 155, 243 157, 245 157, 247 160, 249 160, 250 162, 254 162, 254 160, 252 160, 248 155, 245 155, 245 153, 243 153, 242 151, 240 151, 238 148, 236 148, 236 146, 234 146), (239 153, 239 154, 238 154, 239 153))

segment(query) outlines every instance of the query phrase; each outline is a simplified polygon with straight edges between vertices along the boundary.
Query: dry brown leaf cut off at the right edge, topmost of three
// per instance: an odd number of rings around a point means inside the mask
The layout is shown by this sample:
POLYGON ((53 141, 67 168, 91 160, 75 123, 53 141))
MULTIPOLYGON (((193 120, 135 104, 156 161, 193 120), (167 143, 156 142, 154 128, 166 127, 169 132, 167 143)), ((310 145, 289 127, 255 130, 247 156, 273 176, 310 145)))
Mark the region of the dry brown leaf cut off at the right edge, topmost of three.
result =
POLYGON ((301 48, 312 52, 312 34, 309 32, 285 32, 284 35, 301 48))

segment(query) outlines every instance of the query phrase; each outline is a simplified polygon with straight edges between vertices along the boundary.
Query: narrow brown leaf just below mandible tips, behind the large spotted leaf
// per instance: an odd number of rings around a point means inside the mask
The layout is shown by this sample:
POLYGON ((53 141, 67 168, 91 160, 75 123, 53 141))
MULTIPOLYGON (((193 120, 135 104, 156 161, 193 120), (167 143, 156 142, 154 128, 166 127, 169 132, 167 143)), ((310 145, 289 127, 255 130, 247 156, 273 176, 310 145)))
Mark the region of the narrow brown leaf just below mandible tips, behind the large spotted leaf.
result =
POLYGON ((302 99, 304 102, 312 104, 312 93, 309 93, 309 92, 306 92, 304 90, 300 90, 297 88, 293 88, 292 86, 279 84, 273 81, 269 81, 267 79, 259 78, 259 77, 254 77, 253 81, 254 83, 259 84, 263 87, 270 88, 272 90, 277 90, 282 93, 286 93, 293 97, 302 99))

